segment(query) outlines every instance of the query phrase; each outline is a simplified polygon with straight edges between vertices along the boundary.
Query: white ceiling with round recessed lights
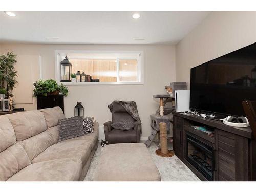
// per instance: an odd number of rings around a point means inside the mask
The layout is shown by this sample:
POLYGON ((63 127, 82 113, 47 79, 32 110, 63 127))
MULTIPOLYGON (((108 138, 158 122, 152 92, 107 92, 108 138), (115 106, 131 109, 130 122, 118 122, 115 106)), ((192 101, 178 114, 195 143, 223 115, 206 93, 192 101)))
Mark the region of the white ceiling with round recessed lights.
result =
POLYGON ((175 45, 210 13, 208 11, 0 12, 0 42, 43 44, 171 44, 175 45), (46 37, 58 37, 47 39, 46 37), (145 40, 135 40, 142 38, 145 40))

